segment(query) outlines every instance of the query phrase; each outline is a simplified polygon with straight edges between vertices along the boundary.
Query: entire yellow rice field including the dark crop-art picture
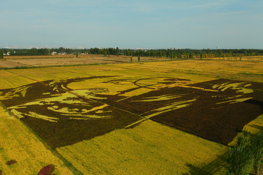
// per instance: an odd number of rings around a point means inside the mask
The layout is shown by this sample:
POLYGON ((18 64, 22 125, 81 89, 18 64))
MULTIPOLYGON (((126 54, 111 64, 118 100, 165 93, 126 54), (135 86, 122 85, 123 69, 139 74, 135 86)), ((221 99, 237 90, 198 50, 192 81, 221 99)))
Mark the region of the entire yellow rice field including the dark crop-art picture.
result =
POLYGON ((263 130, 263 62, 0 70, 0 105, 0 175, 224 175, 263 130))

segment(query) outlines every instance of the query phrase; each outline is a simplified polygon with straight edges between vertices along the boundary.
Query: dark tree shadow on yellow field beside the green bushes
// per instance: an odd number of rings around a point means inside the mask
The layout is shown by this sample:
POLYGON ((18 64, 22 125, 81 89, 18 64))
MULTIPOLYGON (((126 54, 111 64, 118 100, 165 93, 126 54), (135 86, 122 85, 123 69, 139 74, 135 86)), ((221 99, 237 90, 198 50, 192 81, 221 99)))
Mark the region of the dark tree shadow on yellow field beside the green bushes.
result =
POLYGON ((215 160, 208 163, 207 165, 197 167, 192 164, 187 164, 189 173, 183 175, 215 175, 225 174, 224 167, 226 165, 227 153, 222 156, 218 156, 215 160))

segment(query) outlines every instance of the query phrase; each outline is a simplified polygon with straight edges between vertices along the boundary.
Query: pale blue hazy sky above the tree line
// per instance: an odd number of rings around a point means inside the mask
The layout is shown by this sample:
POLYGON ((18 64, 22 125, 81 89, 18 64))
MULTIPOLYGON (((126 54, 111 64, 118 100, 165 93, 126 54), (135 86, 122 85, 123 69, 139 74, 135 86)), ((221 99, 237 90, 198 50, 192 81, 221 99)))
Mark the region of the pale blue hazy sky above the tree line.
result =
POLYGON ((0 47, 263 49, 263 0, 0 0, 0 47))

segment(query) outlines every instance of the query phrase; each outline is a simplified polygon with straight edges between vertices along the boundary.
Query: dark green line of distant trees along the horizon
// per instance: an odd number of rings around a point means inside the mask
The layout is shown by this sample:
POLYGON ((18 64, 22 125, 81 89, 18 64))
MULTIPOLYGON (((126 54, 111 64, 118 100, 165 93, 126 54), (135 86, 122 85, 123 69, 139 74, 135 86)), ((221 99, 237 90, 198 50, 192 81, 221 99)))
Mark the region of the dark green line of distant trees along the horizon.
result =
POLYGON ((117 48, 90 48, 90 49, 70 49, 70 48, 52 48, 52 49, 0 49, 4 54, 10 55, 47 55, 53 52, 66 54, 102 54, 107 55, 125 55, 125 56, 146 56, 146 57, 166 57, 170 59, 192 59, 192 58, 213 58, 223 57, 237 59, 239 56, 256 56, 263 55, 263 50, 260 49, 151 49, 151 50, 135 50, 135 49, 119 49, 117 48))

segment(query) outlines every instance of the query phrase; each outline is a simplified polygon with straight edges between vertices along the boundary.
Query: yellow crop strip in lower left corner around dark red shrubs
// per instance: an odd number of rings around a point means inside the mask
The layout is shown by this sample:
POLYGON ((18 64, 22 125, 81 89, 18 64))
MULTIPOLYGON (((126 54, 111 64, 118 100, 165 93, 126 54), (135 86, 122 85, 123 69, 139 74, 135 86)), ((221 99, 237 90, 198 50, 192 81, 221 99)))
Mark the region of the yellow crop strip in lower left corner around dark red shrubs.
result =
POLYGON ((0 170, 2 175, 37 175, 49 164, 55 165, 56 175, 73 175, 38 138, 18 119, 10 117, 0 107, 0 170), (7 161, 16 160, 13 165, 7 161))

